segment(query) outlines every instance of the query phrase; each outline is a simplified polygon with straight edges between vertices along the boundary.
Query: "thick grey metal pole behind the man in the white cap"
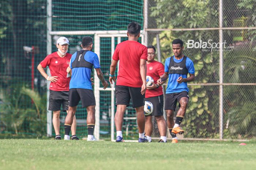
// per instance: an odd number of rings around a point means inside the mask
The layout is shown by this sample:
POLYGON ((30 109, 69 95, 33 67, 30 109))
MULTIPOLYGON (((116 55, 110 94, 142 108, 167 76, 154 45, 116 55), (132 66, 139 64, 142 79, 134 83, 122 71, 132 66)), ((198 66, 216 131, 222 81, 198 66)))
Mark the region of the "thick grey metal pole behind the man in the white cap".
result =
MULTIPOLYGON (((47 54, 52 53, 52 0, 47 0, 47 54)), ((50 75, 50 70, 47 68, 47 75, 50 75)), ((47 136, 52 136, 52 111, 48 110, 49 107, 49 87, 50 82, 47 81, 47 136)))

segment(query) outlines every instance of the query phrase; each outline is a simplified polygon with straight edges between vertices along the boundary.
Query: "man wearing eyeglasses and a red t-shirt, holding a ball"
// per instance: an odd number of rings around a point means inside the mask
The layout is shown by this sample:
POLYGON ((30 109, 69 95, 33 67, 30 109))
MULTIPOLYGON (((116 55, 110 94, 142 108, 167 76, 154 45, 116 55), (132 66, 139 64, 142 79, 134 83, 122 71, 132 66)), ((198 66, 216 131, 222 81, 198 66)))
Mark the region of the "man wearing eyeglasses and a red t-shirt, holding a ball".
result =
POLYGON ((147 76, 151 76, 154 82, 151 86, 147 86, 147 91, 145 95, 145 101, 149 101, 153 104, 153 112, 146 116, 145 133, 148 135, 149 141, 151 142, 151 135, 153 131, 152 116, 155 117, 157 121, 157 126, 160 133, 160 140, 158 142, 166 142, 166 129, 167 124, 163 118, 163 88, 161 85, 157 84, 157 80, 165 72, 165 68, 162 63, 155 61, 155 47, 147 46, 147 76))

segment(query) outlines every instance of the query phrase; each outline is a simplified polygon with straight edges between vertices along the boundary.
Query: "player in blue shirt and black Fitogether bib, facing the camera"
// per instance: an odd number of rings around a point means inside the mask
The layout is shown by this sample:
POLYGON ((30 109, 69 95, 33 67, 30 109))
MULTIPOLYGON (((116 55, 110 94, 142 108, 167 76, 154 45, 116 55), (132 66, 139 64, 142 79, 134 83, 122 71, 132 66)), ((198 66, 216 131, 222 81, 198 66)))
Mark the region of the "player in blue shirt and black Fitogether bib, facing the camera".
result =
POLYGON ((157 83, 162 85, 162 83, 169 78, 165 95, 167 125, 173 138, 172 143, 178 143, 176 134, 184 133, 180 128, 180 124, 185 116, 189 101, 187 82, 195 80, 195 68, 193 61, 182 54, 184 46, 181 39, 174 39, 172 46, 174 56, 166 59, 165 73, 157 80, 157 83), (187 77, 188 74, 189 77, 187 77), (173 114, 177 102, 179 102, 180 109, 177 112, 174 124, 173 114))

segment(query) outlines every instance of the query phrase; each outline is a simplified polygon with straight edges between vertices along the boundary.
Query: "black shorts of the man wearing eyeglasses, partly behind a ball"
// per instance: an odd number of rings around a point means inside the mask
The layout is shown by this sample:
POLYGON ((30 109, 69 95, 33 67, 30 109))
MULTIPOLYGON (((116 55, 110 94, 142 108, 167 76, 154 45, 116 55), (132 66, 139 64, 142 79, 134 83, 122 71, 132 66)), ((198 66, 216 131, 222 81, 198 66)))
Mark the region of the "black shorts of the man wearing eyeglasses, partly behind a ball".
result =
POLYGON ((153 112, 147 116, 163 116, 163 95, 146 98, 145 101, 149 101, 153 104, 153 112))

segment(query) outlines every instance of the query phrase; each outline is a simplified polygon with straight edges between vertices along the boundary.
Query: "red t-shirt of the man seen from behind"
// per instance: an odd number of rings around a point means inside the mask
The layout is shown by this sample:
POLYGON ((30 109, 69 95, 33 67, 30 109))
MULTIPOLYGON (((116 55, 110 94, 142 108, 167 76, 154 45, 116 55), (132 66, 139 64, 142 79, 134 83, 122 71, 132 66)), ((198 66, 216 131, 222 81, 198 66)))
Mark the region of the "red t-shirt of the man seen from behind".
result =
POLYGON ((116 46, 113 60, 120 60, 116 85, 142 86, 140 59, 147 60, 147 47, 139 42, 127 40, 116 46))

